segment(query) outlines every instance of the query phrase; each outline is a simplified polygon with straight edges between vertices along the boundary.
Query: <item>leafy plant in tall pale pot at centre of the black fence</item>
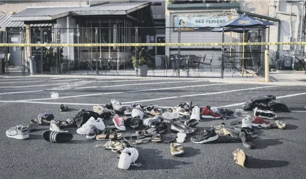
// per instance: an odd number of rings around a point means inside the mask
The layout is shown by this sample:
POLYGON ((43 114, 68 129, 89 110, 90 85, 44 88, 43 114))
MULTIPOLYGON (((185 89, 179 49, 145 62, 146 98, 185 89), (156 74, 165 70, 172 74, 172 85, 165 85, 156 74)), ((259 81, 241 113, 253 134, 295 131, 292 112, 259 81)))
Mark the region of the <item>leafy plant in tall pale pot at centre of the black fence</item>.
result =
MULTIPOLYGON (((134 50, 134 53, 135 52, 136 52, 136 49, 134 50)), ((139 47, 137 52, 139 52, 139 53, 136 53, 137 58, 136 56, 132 56, 133 67, 136 70, 136 66, 138 66, 138 72, 139 72, 138 74, 140 77, 147 77, 148 69, 149 69, 148 65, 151 64, 152 57, 151 55, 148 54, 148 50, 145 48, 139 47)))

